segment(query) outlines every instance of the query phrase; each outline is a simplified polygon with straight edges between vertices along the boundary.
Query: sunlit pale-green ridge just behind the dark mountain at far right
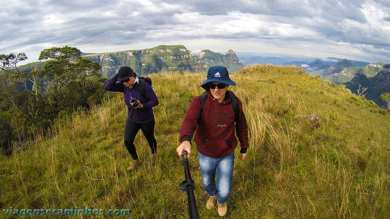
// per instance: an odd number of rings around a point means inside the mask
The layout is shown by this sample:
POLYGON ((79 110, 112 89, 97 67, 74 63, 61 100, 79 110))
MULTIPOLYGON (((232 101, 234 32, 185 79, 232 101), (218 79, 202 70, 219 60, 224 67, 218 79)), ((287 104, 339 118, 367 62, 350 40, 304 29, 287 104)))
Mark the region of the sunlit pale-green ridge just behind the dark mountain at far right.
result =
POLYGON ((324 79, 330 80, 333 84, 341 85, 348 81, 351 81, 353 76, 355 76, 356 72, 360 72, 365 74, 367 78, 372 78, 376 76, 376 74, 382 70, 383 65, 385 63, 371 63, 363 67, 346 67, 339 73, 334 73, 329 76, 326 76, 324 79))

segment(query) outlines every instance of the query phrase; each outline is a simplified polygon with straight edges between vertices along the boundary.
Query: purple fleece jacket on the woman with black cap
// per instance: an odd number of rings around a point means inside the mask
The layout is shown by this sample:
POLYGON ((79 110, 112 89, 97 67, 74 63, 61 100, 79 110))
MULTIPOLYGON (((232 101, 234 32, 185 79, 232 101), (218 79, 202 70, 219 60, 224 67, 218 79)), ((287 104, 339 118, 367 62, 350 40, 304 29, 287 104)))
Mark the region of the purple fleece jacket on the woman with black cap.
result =
POLYGON ((104 88, 108 91, 113 92, 122 92, 124 95, 124 102, 127 105, 127 119, 131 122, 136 123, 147 123, 154 120, 154 113, 152 107, 158 105, 158 99, 156 94, 154 93, 153 88, 148 83, 144 83, 145 87, 145 96, 142 96, 140 93, 140 90, 138 88, 138 83, 136 82, 132 88, 126 87, 123 83, 117 82, 118 74, 115 74, 106 85, 104 85, 104 88), (133 118, 130 117, 130 111, 129 107, 130 99, 131 97, 138 97, 140 99, 140 102, 142 105, 144 105, 144 108, 140 109, 134 109, 133 118))

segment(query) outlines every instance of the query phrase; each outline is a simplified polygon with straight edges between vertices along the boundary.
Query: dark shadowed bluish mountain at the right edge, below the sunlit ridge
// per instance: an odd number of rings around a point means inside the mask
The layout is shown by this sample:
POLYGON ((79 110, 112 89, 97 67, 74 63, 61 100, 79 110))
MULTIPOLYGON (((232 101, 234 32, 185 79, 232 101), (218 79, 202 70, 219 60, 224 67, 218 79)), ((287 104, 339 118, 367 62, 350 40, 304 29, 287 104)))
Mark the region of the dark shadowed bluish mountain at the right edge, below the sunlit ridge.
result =
POLYGON ((345 83, 345 85, 354 94, 357 94, 359 85, 361 85, 360 91, 367 87, 367 90, 363 93, 365 98, 374 101, 379 106, 385 107, 386 103, 381 101, 379 97, 383 93, 390 92, 390 64, 384 65, 381 71, 372 78, 367 78, 365 74, 358 71, 352 80, 345 83))

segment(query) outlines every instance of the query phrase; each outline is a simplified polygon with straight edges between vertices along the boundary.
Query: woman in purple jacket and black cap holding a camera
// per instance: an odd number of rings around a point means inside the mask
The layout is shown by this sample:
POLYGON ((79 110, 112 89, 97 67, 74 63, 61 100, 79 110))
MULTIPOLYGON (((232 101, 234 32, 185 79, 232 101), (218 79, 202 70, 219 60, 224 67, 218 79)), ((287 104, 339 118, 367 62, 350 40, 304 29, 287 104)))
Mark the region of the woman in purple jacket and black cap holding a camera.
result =
POLYGON ((128 118, 124 128, 124 144, 129 151, 133 162, 127 168, 128 171, 132 171, 141 164, 138 158, 137 151, 134 145, 134 139, 138 131, 141 129, 144 136, 151 148, 151 164, 156 160, 157 142, 154 138, 154 114, 152 107, 158 105, 158 99, 151 85, 144 82, 145 95, 140 92, 139 82, 137 74, 128 66, 121 67, 117 74, 115 74, 104 86, 108 91, 122 92, 124 94, 124 102, 128 109, 128 118), (138 106, 131 109, 133 105, 130 100, 136 97, 139 99, 138 106), (131 115, 131 111, 133 115, 131 115))

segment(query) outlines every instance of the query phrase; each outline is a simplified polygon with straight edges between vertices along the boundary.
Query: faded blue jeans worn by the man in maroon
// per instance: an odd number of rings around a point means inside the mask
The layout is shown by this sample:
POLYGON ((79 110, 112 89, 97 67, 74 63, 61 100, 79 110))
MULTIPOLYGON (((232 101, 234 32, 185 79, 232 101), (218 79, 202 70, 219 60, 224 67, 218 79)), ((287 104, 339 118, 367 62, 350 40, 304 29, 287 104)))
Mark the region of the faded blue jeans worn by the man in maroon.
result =
POLYGON ((232 192, 234 151, 223 157, 207 157, 198 152, 203 187, 209 196, 216 195, 219 203, 225 203, 232 192), (217 183, 215 184, 215 170, 217 183))

